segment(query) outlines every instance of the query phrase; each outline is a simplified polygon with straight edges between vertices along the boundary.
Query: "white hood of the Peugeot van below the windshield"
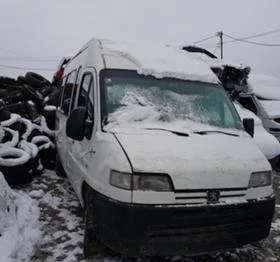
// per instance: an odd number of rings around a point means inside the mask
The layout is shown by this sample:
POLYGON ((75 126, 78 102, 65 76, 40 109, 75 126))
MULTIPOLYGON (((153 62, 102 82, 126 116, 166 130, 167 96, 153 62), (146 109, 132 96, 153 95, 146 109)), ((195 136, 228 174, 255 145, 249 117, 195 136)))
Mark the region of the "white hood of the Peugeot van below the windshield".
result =
POLYGON ((222 133, 115 133, 133 172, 168 174, 175 190, 246 188, 250 174, 271 170, 253 139, 222 133))

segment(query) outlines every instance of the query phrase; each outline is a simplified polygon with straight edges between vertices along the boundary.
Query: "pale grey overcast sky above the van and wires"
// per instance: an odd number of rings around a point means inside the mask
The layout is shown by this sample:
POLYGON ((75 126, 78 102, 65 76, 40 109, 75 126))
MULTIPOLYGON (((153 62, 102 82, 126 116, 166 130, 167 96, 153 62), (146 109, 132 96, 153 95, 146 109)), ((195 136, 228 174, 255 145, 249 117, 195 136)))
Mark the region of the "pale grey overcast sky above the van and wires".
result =
MULTIPOLYGON (((220 30, 242 38, 278 28, 279 0, 0 0, 0 75, 26 72, 3 65, 55 69, 92 37, 193 44, 220 30)), ((280 44, 280 32, 252 41, 280 44)), ((201 46, 219 55, 217 43, 201 46)), ((228 43, 224 58, 280 78, 280 46, 228 43)))

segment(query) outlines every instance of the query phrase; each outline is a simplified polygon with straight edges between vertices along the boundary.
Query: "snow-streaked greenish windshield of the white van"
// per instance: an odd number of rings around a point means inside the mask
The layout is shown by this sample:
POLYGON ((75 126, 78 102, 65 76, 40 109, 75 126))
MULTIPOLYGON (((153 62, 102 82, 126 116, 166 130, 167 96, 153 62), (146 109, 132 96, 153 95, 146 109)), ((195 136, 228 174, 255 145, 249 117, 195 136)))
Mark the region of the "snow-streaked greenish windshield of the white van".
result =
POLYGON ((101 93, 105 125, 188 123, 242 128, 233 104, 218 84, 105 70, 101 93))

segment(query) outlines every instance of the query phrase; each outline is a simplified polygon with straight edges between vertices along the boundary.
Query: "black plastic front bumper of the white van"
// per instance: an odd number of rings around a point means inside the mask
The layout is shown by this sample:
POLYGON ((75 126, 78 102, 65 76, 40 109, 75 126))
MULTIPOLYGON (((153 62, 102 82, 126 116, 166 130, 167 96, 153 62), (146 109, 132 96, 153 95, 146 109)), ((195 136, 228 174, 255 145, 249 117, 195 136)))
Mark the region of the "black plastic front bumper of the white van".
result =
POLYGON ((232 205, 151 206, 110 200, 95 193, 99 236, 128 256, 199 255, 268 236, 275 199, 232 205))

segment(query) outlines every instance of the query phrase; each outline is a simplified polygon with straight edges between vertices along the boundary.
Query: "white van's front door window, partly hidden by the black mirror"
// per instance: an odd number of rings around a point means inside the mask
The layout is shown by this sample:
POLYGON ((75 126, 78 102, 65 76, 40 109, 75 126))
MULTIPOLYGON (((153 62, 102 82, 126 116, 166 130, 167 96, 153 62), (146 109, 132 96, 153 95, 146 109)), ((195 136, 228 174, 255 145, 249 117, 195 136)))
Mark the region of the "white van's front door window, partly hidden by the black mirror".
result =
POLYGON ((93 128, 93 76, 90 73, 83 75, 80 93, 78 97, 78 106, 86 107, 87 117, 86 117, 86 131, 85 137, 90 139, 92 128, 93 128))

